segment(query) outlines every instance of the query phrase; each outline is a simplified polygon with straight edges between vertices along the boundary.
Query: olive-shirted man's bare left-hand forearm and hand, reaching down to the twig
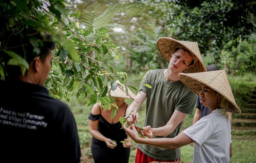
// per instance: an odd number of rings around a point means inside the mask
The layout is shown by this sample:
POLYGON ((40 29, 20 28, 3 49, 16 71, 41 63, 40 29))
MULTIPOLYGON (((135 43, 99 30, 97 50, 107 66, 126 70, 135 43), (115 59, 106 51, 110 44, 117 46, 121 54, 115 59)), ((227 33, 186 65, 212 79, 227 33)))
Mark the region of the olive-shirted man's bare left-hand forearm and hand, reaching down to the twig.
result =
MULTIPOLYGON (((147 93, 139 91, 139 93, 135 97, 136 101, 133 101, 132 104, 127 108, 125 115, 129 114, 133 110, 133 108, 137 108, 137 111, 138 111, 146 98, 147 98, 147 93)), ((139 122, 139 113, 136 114, 135 119, 137 122, 139 122)), ((130 115, 127 118, 127 120, 129 123, 131 123, 133 120, 132 115, 130 115)))

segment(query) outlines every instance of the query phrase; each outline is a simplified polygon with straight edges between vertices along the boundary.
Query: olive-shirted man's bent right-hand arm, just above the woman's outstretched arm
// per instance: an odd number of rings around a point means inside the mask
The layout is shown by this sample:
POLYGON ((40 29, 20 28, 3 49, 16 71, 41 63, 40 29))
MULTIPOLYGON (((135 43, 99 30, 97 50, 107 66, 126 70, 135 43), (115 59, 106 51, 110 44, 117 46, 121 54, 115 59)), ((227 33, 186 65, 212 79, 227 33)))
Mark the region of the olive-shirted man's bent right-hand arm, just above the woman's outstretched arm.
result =
MULTIPOLYGON (((163 127, 152 128, 152 134, 156 136, 170 135, 175 128, 184 120, 186 113, 174 110, 172 117, 163 127)), ((146 130, 149 130, 148 128, 146 130)), ((150 131, 150 130, 149 130, 150 131)))

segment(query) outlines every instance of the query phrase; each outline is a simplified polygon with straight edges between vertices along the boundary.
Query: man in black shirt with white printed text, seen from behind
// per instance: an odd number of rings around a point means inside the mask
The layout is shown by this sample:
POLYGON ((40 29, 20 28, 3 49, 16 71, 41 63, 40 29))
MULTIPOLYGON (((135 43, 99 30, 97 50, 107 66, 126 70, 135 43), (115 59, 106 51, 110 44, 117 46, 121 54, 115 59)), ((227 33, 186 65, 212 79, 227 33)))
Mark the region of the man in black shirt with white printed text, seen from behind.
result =
MULTIPOLYGON (((29 63, 7 65, 0 80, 0 162, 80 162, 77 126, 69 107, 49 97, 44 82, 51 69, 52 36, 24 29, 25 37, 13 35, 7 47, 29 63), (30 38, 41 40, 36 55, 30 38)), ((1 51, 5 63, 11 59, 1 51)))

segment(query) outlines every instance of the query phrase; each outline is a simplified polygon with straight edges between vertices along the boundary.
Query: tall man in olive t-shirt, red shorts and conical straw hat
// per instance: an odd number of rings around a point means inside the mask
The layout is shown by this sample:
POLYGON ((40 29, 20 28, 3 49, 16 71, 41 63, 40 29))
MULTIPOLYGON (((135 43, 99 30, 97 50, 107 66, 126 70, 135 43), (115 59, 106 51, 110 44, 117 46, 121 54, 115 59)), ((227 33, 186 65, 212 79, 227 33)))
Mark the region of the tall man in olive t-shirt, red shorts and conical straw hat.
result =
MULTIPOLYGON (((192 115, 196 94, 187 88, 178 78, 178 74, 206 71, 196 42, 177 41, 172 38, 159 38, 157 48, 163 58, 169 62, 167 69, 150 70, 144 76, 136 101, 127 108, 126 113, 139 109, 147 98, 147 110, 144 133, 152 138, 175 137, 179 134, 182 121, 187 114, 192 115), (143 84, 149 84, 148 88, 143 84)), ((132 122, 132 116, 127 120, 132 122)), ((136 121, 139 121, 138 114, 136 121)), ((163 149, 145 144, 137 144, 135 163, 151 161, 179 161, 180 148, 163 149)))

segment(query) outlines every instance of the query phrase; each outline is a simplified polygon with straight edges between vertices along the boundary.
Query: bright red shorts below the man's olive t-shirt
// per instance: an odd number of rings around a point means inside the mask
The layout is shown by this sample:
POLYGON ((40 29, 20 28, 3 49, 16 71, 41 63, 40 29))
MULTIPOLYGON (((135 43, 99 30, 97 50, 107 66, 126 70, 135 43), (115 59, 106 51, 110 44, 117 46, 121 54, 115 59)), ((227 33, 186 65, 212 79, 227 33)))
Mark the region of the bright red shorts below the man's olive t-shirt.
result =
POLYGON ((143 152, 141 152, 141 150, 139 150, 139 148, 137 148, 137 154, 135 157, 135 163, 149 163, 152 161, 157 161, 157 162, 179 162, 179 159, 174 159, 174 160, 159 160, 159 159, 153 159, 149 156, 147 156, 146 154, 144 154, 143 152))

